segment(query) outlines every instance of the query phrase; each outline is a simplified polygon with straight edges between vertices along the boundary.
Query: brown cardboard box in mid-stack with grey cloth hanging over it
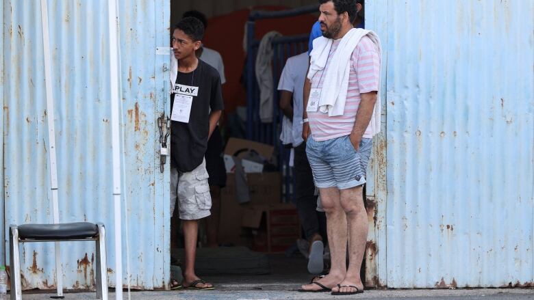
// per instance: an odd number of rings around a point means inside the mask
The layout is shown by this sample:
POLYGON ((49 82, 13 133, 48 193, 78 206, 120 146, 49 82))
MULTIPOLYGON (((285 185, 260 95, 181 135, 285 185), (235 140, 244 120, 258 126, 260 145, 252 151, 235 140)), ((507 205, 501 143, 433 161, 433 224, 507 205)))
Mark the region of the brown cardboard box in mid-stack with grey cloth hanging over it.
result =
POLYGON ((221 190, 220 226, 218 239, 220 243, 232 243, 236 246, 253 245, 251 230, 242 228, 244 210, 255 204, 279 204, 281 201, 281 174, 266 172, 247 174, 251 202, 238 204, 236 200, 236 176, 227 174, 227 185, 221 190))

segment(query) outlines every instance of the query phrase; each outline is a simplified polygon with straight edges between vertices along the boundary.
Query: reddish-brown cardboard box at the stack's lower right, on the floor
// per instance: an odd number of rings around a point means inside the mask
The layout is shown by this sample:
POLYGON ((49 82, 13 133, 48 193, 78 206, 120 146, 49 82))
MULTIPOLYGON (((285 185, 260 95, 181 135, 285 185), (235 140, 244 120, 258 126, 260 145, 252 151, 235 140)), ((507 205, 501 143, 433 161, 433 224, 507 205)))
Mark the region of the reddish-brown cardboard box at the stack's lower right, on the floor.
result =
POLYGON ((251 205, 243 211, 242 226, 253 229, 254 251, 283 252, 301 236, 292 204, 251 205))

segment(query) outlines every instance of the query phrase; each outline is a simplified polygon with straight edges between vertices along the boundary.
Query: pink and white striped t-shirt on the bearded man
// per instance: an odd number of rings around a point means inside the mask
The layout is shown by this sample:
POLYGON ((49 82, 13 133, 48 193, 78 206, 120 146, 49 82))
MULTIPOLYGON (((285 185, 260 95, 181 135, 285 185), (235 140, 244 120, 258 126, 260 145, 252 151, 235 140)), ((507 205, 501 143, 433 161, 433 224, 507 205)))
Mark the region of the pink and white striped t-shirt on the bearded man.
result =
MULTIPOLYGON (((328 55, 327 65, 325 66, 325 69, 316 72, 314 75, 314 78, 312 79, 312 88, 322 89, 322 83, 325 81, 323 72, 327 74, 332 57, 336 49, 338 49, 340 42, 341 39, 333 41, 328 55)), ((312 137, 316 141, 326 141, 328 139, 350 135, 354 127, 356 113, 361 101, 360 94, 379 90, 379 49, 368 36, 361 38, 353 51, 350 63, 351 71, 348 77, 348 92, 344 114, 329 117, 328 113, 321 113, 320 111, 307 113, 309 127, 312 129, 312 137)), ((372 116, 370 124, 373 124, 373 122, 374 115, 372 116)), ((372 135, 374 135, 372 128, 371 126, 368 126, 364 133, 364 137, 372 138, 372 135)))

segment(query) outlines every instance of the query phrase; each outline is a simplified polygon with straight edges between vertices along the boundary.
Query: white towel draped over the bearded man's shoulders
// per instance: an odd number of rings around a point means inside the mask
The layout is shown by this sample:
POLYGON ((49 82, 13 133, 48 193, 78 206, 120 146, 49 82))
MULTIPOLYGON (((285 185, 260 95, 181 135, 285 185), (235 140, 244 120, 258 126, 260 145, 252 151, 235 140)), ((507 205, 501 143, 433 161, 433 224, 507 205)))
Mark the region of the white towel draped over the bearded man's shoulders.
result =
MULTIPOLYGON (((380 40, 376 33, 366 29, 353 28, 342 38, 338 49, 335 51, 327 73, 323 75, 325 81, 322 84, 321 96, 319 99, 319 111, 328 113, 330 117, 343 115, 345 109, 346 95, 348 91, 348 77, 351 72, 351 56, 357 44, 364 36, 368 36, 379 49, 381 57, 380 40)), ((324 70, 327 65, 328 56, 332 47, 332 39, 320 37, 314 40, 314 49, 310 53, 310 66, 307 75, 312 79, 316 72, 324 70)), ((374 133, 380 131, 380 92, 377 103, 374 105, 374 133)))

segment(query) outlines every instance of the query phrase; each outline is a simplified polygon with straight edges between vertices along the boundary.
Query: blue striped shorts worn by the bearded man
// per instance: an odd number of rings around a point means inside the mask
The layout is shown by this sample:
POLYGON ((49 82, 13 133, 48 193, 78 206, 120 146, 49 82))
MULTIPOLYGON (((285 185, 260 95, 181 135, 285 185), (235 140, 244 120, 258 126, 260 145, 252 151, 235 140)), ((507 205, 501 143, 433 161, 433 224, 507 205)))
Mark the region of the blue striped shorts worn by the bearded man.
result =
POLYGON ((306 154, 316 187, 351 189, 366 183, 372 139, 361 139, 356 151, 348 135, 326 141, 307 139, 306 154))

